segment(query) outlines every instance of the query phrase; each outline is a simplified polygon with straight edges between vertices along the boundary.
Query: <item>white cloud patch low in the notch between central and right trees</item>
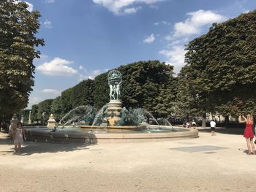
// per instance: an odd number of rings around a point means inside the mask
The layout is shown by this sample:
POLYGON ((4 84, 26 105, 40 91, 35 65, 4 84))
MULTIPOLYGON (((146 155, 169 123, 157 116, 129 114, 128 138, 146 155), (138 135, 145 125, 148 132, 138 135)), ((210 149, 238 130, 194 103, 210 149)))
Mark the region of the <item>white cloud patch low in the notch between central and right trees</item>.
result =
POLYGON ((184 66, 186 50, 183 46, 173 46, 170 50, 161 50, 159 53, 168 58, 167 64, 174 66, 174 72, 179 72, 181 67, 184 66))

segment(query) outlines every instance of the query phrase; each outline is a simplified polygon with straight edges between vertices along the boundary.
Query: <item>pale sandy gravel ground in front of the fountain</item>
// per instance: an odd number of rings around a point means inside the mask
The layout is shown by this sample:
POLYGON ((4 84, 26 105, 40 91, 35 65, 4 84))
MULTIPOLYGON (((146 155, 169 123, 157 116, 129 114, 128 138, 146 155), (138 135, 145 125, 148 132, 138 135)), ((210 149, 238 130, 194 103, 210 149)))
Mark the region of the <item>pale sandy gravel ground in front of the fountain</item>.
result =
POLYGON ((255 192, 256 155, 246 155, 240 132, 90 146, 27 141, 20 154, 0 133, 0 191, 255 192))

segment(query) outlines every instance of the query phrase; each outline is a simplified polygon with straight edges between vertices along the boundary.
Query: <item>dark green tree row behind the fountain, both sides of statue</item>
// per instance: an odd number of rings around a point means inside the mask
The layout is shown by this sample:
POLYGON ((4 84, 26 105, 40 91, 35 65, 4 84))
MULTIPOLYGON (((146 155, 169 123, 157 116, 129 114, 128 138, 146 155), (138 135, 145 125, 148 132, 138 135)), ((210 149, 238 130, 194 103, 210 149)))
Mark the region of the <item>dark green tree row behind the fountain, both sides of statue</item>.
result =
MULTIPOLYGON (((167 117, 173 113, 177 83, 173 77, 173 66, 159 61, 139 61, 120 66, 117 70, 123 75, 123 106, 142 107, 157 117, 167 117)), ((83 80, 63 91, 61 96, 53 99, 49 109, 57 121, 80 105, 93 105, 99 109, 110 101, 109 91, 108 72, 105 72, 95 80, 83 80)), ((38 108, 38 111, 42 115, 42 110, 38 108)))

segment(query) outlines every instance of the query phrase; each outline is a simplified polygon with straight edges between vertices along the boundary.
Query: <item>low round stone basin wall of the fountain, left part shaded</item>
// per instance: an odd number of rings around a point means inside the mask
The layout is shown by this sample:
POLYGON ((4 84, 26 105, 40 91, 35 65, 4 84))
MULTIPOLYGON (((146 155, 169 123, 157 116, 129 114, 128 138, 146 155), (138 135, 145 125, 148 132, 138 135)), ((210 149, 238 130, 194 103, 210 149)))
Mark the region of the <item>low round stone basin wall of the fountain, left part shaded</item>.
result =
MULTIPOLYGON (((157 126, 158 127, 158 126, 157 126)), ((40 142, 76 142, 87 145, 120 142, 159 142, 172 139, 188 139, 198 137, 194 128, 175 128, 161 126, 162 131, 83 131, 80 128, 57 128, 53 132, 49 128, 26 128, 27 139, 40 142), (163 128, 162 128, 163 127, 163 128), (175 130, 175 131, 174 131, 175 130)))

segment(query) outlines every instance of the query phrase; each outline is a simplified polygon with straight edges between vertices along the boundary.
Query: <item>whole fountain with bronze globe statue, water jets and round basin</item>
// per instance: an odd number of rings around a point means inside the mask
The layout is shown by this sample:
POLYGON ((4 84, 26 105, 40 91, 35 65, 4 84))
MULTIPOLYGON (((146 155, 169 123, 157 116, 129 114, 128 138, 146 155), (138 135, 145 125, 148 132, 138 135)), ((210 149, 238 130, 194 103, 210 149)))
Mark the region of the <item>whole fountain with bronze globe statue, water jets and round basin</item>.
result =
POLYGON ((97 113, 92 106, 80 106, 68 112, 54 131, 47 128, 26 128, 31 140, 46 142, 144 142, 174 138, 198 137, 198 131, 190 128, 173 128, 165 120, 160 126, 151 112, 144 109, 127 110, 121 103, 122 75, 117 70, 108 73, 110 101, 97 113), (157 125, 147 123, 154 120, 157 125), (167 124, 167 125, 166 125, 167 124))

